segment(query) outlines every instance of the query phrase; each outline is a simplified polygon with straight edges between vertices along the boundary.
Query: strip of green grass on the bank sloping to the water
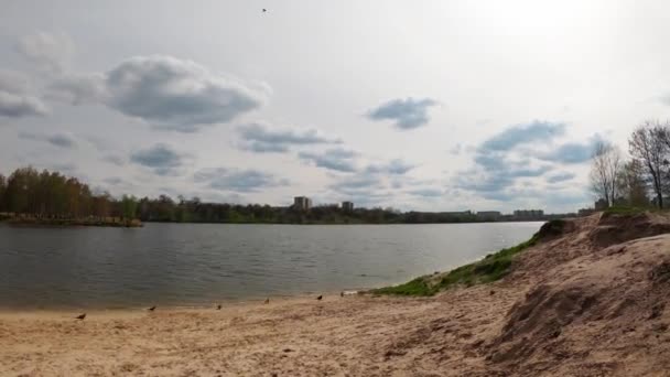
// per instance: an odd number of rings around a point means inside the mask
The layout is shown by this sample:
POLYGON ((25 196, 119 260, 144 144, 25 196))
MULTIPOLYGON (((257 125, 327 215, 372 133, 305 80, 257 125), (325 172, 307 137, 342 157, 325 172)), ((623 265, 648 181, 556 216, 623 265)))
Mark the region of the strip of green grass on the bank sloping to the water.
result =
POLYGON ((371 290, 372 294, 398 294, 398 295, 433 295, 441 290, 455 286, 471 287, 474 284, 489 283, 502 279, 511 272, 512 260, 516 255, 537 245, 542 239, 556 236, 563 231, 563 220, 551 220, 542 225, 540 230, 530 239, 517 246, 489 254, 476 262, 461 266, 447 273, 435 273, 423 276, 403 284, 385 287, 371 290))

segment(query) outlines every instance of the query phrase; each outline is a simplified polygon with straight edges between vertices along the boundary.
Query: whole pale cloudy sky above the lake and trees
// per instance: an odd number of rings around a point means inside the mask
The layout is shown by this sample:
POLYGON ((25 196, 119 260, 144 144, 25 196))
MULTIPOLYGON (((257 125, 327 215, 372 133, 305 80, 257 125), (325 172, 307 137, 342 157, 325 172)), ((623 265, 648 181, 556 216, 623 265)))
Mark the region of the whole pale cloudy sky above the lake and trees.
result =
POLYGON ((664 1, 32 1, 0 11, 0 172, 115 195, 573 211, 670 117, 664 1), (266 8, 268 11, 262 12, 266 8))

